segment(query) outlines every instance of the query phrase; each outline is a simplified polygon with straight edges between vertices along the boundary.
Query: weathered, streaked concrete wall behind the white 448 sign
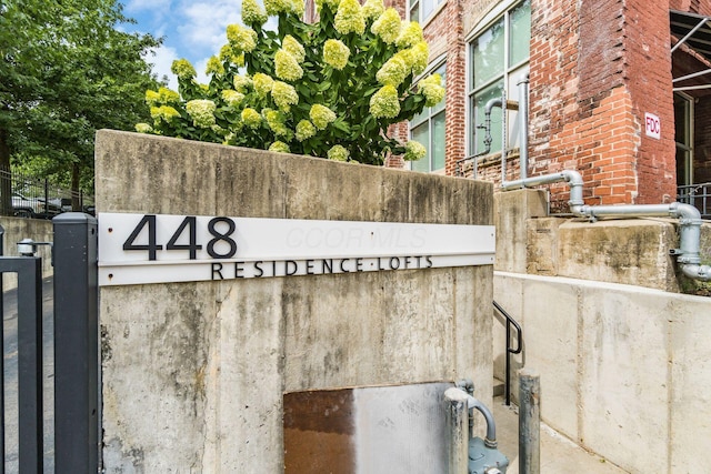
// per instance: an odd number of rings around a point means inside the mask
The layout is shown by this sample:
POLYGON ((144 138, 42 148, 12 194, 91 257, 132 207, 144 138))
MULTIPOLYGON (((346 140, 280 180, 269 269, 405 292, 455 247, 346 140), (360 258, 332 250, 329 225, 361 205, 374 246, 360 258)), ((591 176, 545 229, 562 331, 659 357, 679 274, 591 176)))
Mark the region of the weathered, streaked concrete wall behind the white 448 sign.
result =
MULTIPOLYGON (((97 210, 492 224, 488 183, 101 131, 97 210)), ((282 393, 474 380, 491 265, 102 288, 108 473, 278 473, 282 393)))

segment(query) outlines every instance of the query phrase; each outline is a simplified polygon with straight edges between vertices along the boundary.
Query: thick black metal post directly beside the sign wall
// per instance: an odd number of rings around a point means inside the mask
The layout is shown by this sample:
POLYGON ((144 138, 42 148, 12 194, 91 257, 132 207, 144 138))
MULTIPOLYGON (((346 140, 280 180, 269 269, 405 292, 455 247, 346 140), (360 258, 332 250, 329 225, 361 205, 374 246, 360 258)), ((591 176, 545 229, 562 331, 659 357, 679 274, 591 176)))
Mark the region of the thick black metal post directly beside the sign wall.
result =
POLYGON ((54 226, 54 462, 58 473, 99 470, 97 220, 68 212, 54 226))

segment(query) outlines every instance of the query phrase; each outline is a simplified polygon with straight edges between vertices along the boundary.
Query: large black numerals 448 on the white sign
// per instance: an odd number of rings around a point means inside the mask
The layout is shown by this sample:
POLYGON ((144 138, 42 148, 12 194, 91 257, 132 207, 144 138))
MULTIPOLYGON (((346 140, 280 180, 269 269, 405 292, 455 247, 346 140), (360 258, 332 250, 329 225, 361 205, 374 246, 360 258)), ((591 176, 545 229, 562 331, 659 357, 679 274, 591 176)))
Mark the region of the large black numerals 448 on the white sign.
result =
MULTIPOLYGON (((176 229, 176 232, 173 232, 172 236, 166 243, 166 250, 167 251, 168 250, 183 250, 183 251, 187 250, 190 255, 190 260, 196 260, 198 250, 202 250, 202 245, 198 243, 197 225, 198 225, 198 219, 194 215, 186 216, 180 223, 180 225, 178 226, 178 229, 176 229), (178 243, 178 240, 180 240, 180 238, 183 234, 188 235, 188 243, 178 243)), ((210 219, 210 221, 208 221, 208 232, 210 233, 212 239, 208 241, 208 244, 206 248, 208 255, 210 255, 213 259, 231 259, 232 256, 234 256, 234 254, 237 253, 237 242, 234 242, 231 235, 234 233, 236 229, 237 226, 234 224, 234 221, 231 220, 230 218, 219 216, 219 218, 210 219), (226 232, 221 232, 218 229, 218 224, 221 224, 221 223, 227 224, 226 232), (216 250, 216 245, 218 245, 219 242, 224 242, 229 248, 229 250, 222 253, 218 252, 216 250)), ((219 245, 219 246, 223 248, 226 245, 219 245)), ((156 260, 157 252, 159 250, 161 251, 163 250, 163 245, 157 242, 156 214, 143 215, 143 218, 136 225, 136 228, 133 229, 131 234, 128 236, 126 242, 123 242, 123 250, 148 251, 148 260, 156 260), (148 243, 146 244, 136 243, 136 240, 143 232, 144 228, 148 228, 147 229, 148 243)))

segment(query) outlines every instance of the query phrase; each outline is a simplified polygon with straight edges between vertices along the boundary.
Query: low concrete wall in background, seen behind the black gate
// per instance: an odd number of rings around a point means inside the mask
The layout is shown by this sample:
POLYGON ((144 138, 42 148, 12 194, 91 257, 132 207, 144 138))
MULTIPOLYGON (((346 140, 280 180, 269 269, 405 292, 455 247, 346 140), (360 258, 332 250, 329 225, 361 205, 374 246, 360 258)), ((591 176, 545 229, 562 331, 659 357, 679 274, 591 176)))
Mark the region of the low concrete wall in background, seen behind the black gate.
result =
MULTIPOLYGON (((2 254, 18 256, 18 242, 32 239, 34 242, 52 242, 54 234, 52 222, 38 219, 19 219, 0 216, 0 225, 4 229, 2 254)), ((52 274, 52 251, 48 245, 38 245, 37 256, 42 258, 42 275, 52 274)), ((17 274, 8 274, 2 279, 2 291, 17 288, 17 274)))

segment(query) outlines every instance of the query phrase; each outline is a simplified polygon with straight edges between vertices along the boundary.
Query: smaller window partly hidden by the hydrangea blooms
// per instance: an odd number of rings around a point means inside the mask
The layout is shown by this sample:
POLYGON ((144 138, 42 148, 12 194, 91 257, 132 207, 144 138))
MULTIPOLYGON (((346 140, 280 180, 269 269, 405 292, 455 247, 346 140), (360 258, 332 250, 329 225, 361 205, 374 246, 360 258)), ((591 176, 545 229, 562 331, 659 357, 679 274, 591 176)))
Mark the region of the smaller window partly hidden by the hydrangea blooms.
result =
MULTIPOLYGON (((447 83, 447 64, 434 69, 432 74, 442 77, 442 85, 447 83)), ((412 162, 414 171, 435 171, 444 169, 444 102, 425 108, 420 114, 410 120, 410 140, 424 145, 427 155, 412 162)))

